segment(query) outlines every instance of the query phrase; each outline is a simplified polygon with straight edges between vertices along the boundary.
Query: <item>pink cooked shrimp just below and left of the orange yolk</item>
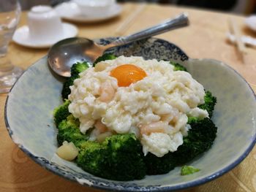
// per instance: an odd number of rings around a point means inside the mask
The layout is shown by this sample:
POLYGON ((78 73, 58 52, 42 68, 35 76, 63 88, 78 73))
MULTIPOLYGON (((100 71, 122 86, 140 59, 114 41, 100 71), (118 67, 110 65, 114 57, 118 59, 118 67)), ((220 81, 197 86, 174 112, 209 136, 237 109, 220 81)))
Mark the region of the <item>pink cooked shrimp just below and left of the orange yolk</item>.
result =
POLYGON ((116 90, 111 85, 111 82, 106 81, 106 82, 103 82, 102 85, 100 85, 99 93, 100 93, 99 100, 102 102, 108 103, 115 96, 116 90))

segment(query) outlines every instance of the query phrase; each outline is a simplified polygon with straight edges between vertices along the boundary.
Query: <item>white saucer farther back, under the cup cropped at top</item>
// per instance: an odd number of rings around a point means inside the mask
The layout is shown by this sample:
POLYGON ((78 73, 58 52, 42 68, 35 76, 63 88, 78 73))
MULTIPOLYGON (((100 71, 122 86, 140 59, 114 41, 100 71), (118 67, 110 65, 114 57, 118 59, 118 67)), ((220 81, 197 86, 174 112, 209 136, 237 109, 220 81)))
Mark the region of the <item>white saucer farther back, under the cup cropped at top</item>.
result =
POLYGON ((59 4, 55 7, 56 12, 61 18, 81 23, 93 23, 102 20, 108 20, 119 15, 122 11, 122 7, 119 4, 113 4, 108 12, 102 12, 101 15, 81 15, 78 4, 69 1, 59 4))

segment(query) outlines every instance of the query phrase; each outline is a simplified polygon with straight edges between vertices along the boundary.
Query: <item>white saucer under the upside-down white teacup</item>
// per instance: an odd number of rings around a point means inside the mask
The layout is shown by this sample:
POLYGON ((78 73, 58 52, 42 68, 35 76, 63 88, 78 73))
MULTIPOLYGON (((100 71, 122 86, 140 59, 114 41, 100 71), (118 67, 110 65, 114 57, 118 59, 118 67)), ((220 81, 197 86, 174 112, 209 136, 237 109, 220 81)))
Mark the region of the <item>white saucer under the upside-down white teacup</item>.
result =
POLYGON ((25 47, 31 47, 31 48, 48 48, 55 44, 56 42, 59 42, 61 39, 67 39, 69 37, 75 37, 78 34, 78 28, 72 24, 69 23, 62 23, 64 34, 62 37, 59 37, 59 39, 55 41, 48 41, 48 42, 40 42, 35 41, 29 37, 29 26, 22 26, 18 28, 13 37, 12 40, 17 43, 18 45, 22 45, 25 47))

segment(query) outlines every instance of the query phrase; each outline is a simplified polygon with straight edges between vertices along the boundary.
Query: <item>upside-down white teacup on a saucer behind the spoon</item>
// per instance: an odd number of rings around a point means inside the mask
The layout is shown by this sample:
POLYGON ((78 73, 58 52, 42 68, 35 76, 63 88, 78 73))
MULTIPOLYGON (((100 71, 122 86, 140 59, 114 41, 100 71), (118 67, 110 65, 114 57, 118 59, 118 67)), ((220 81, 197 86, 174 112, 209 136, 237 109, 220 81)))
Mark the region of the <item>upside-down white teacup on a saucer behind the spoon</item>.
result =
POLYGON ((63 34, 61 18, 49 6, 32 7, 28 14, 29 36, 35 42, 52 42, 63 34))

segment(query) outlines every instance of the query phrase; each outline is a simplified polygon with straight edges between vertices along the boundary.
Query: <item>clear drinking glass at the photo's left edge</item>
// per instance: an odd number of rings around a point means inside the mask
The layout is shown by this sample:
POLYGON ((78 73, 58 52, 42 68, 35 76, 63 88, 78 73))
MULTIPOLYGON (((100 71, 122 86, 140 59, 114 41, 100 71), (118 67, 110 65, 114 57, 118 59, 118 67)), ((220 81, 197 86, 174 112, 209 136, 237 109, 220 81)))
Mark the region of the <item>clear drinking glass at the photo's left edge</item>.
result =
POLYGON ((23 70, 11 64, 7 48, 20 19, 18 0, 0 0, 0 93, 12 88, 23 70))

